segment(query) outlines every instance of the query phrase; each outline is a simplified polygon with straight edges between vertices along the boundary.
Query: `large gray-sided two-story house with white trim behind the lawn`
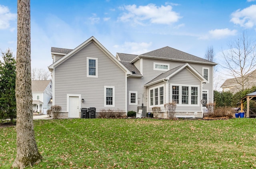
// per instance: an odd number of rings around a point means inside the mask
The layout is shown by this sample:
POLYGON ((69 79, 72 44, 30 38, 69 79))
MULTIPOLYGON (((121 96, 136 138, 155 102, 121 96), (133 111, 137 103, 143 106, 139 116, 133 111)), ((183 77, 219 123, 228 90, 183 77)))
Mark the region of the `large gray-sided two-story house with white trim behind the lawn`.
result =
POLYGON ((163 47, 142 55, 117 53, 114 57, 94 37, 75 49, 51 49, 53 105, 68 118, 80 118, 81 108, 146 112, 176 102, 176 117, 202 117, 202 98, 213 102, 216 63, 163 47), (83 100, 83 101, 82 101, 83 100))

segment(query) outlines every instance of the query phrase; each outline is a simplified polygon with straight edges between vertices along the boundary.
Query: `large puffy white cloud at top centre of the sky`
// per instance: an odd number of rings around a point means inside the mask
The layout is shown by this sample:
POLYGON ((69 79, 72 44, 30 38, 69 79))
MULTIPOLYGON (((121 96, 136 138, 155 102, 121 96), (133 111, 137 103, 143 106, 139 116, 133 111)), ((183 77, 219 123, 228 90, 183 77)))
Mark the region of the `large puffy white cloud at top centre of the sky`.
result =
POLYGON ((122 22, 135 22, 136 24, 143 24, 142 21, 149 20, 152 24, 172 24, 178 22, 180 18, 179 13, 172 10, 172 6, 156 6, 155 4, 148 4, 146 6, 127 5, 121 6, 119 9, 125 10, 118 18, 122 22))

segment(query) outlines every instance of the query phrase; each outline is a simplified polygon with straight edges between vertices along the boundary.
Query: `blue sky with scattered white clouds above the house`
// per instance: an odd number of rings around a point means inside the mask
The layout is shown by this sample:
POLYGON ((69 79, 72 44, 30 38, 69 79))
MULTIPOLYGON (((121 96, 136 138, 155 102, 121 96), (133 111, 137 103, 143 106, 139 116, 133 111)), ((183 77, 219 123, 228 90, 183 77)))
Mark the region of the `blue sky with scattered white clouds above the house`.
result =
MULTIPOLYGON (((16 55, 17 2, 0 1, 0 49, 16 55)), ((91 36, 113 55, 170 46, 204 57, 246 30, 256 35, 256 0, 31 0, 32 68, 47 69, 51 47, 74 49, 91 36)))

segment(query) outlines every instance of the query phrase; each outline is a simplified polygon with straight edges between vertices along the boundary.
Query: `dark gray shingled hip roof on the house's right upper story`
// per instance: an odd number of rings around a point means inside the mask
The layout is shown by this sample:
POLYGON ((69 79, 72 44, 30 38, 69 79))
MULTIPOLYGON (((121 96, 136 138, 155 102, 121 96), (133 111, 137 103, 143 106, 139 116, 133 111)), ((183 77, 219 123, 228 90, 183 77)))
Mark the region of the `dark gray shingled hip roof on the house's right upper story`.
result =
POLYGON ((158 59, 168 59, 174 61, 182 61, 182 62, 192 62, 192 63, 204 63, 210 65, 217 65, 217 63, 208 61, 206 59, 202 59, 200 57, 188 54, 186 52, 180 51, 178 49, 174 49, 172 47, 162 47, 160 49, 156 49, 154 51, 150 51, 144 53, 142 55, 138 55, 138 57, 134 58, 131 63, 136 62, 140 57, 152 57, 158 59))

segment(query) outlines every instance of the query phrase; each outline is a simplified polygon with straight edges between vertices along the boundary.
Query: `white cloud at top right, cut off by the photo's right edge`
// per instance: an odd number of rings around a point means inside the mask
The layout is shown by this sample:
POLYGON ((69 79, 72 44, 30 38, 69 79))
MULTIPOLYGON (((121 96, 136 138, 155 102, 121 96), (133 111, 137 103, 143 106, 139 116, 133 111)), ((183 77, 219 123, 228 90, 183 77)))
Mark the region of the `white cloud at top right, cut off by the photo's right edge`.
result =
POLYGON ((234 24, 238 24, 245 28, 252 28, 256 25, 256 5, 251 5, 243 10, 236 10, 231 14, 230 20, 234 24))

